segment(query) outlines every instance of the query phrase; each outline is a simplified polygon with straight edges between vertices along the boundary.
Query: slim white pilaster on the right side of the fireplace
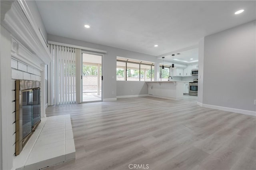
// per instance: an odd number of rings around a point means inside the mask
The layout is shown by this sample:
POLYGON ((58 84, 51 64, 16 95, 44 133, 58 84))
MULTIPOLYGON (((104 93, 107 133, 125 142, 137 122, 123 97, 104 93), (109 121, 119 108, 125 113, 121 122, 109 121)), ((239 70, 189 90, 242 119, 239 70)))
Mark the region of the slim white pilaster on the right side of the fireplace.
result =
POLYGON ((45 114, 45 64, 41 64, 41 117, 46 117, 45 114))

